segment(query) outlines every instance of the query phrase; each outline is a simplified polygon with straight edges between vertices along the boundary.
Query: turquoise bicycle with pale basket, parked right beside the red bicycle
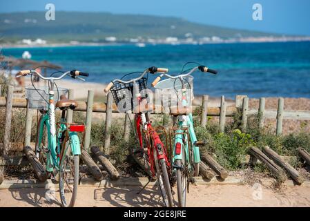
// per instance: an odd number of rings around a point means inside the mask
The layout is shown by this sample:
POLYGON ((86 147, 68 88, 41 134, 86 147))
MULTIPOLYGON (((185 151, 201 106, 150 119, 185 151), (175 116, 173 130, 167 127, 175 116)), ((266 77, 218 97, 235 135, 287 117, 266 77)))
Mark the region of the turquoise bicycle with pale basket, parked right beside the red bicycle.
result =
POLYGON ((173 115, 172 137, 173 142, 173 177, 177 182, 178 206, 186 206, 186 189, 189 183, 194 182, 193 177, 199 174, 200 151, 199 146, 204 142, 198 142, 193 126, 193 115, 191 113, 191 100, 193 99, 193 76, 195 70, 217 74, 216 70, 206 66, 191 68, 188 73, 182 70, 180 75, 171 76, 166 73, 159 75, 153 81, 152 86, 162 90, 162 94, 171 95, 175 93, 176 99, 171 97, 171 114, 173 115), (167 77, 160 81, 162 77, 167 77), (180 98, 181 97, 181 98, 180 98), (177 101, 177 107, 173 108, 173 100, 177 101))

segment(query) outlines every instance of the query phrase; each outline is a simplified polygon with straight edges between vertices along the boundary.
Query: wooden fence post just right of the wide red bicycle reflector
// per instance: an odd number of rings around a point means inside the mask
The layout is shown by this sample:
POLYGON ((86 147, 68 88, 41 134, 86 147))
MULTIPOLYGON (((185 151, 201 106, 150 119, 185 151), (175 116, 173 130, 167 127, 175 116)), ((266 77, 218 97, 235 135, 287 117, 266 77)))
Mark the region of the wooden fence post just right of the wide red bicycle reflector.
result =
POLYGON ((90 131, 92 129, 92 115, 94 104, 94 91, 88 90, 87 107, 86 107, 86 131, 84 140, 84 150, 89 152, 90 145, 90 131))

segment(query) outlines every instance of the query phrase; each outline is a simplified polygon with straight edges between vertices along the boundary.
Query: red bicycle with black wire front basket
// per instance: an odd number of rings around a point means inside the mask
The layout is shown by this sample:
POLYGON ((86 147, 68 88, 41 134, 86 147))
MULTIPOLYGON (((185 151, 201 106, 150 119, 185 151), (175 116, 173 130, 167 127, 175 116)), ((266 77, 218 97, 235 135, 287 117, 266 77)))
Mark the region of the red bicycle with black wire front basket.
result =
MULTIPOLYGON (((165 206, 173 206, 173 196, 171 191, 170 179, 171 163, 168 160, 167 145, 162 142, 160 135, 166 134, 163 127, 153 128, 149 117, 149 111, 153 111, 153 106, 147 105, 148 90, 146 88, 148 74, 167 73, 167 68, 151 67, 144 70, 139 77, 129 80, 124 80, 128 73, 121 79, 115 79, 108 84, 104 89, 105 92, 110 92, 113 95, 117 109, 120 112, 133 111, 135 113, 135 126, 132 125, 133 131, 137 137, 139 148, 133 151, 134 155, 143 157, 148 162, 148 175, 151 179, 157 177, 159 189, 162 193, 165 206), (144 77, 147 75, 147 77, 144 77)), ((131 121, 130 121, 131 122, 131 121)), ((167 138, 166 138, 167 141, 167 138)), ((144 186, 145 187, 145 186, 144 186)))

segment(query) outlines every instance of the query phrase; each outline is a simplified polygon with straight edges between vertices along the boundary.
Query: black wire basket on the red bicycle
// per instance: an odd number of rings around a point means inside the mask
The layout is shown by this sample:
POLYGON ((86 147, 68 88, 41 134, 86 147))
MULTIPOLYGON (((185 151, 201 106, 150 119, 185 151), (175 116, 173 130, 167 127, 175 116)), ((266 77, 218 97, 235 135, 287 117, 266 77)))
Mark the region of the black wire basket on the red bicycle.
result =
MULTIPOLYGON (((142 77, 142 79, 135 81, 135 84, 138 84, 141 97, 146 97, 146 92, 144 90, 146 89, 146 78, 142 77)), ((110 91, 117 108, 122 108, 122 111, 133 111, 133 83, 123 84, 118 82, 113 84, 110 91)))

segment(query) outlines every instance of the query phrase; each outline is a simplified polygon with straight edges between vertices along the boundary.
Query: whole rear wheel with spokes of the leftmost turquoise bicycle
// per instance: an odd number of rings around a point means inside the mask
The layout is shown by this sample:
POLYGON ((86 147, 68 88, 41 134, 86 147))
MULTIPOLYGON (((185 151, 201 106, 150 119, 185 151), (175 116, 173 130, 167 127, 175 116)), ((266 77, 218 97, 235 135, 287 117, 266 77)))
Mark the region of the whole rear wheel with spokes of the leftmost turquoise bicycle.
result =
POLYGON ((65 144, 59 168, 59 192, 61 204, 72 207, 77 198, 79 183, 79 155, 73 155, 69 140, 65 144))

